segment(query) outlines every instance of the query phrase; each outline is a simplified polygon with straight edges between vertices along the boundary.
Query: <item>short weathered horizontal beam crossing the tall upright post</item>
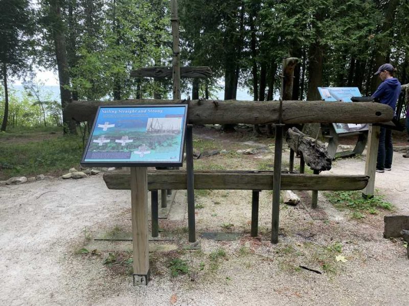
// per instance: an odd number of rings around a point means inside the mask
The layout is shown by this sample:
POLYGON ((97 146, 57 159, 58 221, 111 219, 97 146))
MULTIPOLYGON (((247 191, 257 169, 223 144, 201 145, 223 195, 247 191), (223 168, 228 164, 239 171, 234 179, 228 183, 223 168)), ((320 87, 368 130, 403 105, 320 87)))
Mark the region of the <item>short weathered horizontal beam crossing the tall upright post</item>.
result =
MULTIPOLYGON (((172 67, 149 67, 132 70, 133 78, 172 78, 172 67)), ((210 78, 210 67, 180 67, 180 78, 210 78)))

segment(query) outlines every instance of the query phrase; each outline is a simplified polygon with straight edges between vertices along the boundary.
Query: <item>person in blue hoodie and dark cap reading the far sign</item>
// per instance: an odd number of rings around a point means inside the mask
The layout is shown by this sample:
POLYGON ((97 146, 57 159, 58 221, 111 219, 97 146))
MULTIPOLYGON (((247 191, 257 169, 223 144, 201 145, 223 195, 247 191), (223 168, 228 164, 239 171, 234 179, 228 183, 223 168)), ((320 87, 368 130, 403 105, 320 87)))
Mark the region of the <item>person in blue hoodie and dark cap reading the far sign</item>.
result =
MULTIPOLYGON (((382 83, 372 94, 371 98, 382 104, 389 105, 394 112, 396 111, 396 102, 399 98, 401 85, 398 79, 394 78, 396 69, 391 64, 383 64, 375 72, 379 75, 382 83)), ((395 114, 396 116, 396 114, 395 114)), ((379 134, 378 158, 376 160, 376 172, 383 173, 391 171, 393 158, 392 130, 381 126, 379 134)))

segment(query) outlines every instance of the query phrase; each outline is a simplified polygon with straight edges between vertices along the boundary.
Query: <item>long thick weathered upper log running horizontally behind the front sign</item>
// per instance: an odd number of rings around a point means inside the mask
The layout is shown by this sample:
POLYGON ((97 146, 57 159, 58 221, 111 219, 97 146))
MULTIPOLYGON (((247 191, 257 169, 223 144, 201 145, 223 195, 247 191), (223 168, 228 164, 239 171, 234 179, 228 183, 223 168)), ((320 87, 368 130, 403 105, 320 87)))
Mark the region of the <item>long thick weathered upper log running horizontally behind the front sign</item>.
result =
MULTIPOLYGON (((265 124, 278 123, 279 101, 237 100, 117 100, 73 101, 65 107, 65 116, 76 121, 92 121, 98 106, 136 106, 188 103, 191 124, 265 124)), ((387 122, 393 118, 388 105, 373 102, 345 103, 325 101, 283 101, 282 122, 301 123, 374 123, 387 122)))

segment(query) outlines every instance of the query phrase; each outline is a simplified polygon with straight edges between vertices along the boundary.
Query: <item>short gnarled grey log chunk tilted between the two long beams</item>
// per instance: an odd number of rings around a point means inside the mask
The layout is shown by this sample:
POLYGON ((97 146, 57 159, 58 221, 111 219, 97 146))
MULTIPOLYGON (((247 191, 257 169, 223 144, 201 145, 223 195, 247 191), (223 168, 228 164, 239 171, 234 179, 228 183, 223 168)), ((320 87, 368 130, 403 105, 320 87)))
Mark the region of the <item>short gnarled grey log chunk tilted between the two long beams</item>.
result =
POLYGON ((288 129, 285 139, 288 146, 297 155, 302 156, 305 163, 312 170, 325 171, 331 169, 332 157, 321 141, 305 135, 297 127, 288 129))

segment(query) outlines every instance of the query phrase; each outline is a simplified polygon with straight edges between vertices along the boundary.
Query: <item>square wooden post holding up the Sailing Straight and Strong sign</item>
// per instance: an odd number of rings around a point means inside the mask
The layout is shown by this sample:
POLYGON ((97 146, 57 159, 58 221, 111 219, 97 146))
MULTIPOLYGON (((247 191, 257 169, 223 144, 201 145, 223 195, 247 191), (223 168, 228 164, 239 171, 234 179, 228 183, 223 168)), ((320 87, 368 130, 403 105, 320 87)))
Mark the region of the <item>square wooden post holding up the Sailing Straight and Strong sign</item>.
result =
POLYGON ((133 285, 147 285, 149 281, 147 168, 131 167, 130 184, 133 285))

